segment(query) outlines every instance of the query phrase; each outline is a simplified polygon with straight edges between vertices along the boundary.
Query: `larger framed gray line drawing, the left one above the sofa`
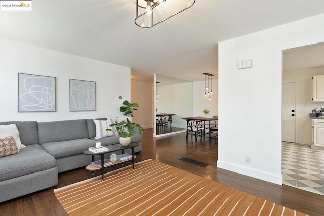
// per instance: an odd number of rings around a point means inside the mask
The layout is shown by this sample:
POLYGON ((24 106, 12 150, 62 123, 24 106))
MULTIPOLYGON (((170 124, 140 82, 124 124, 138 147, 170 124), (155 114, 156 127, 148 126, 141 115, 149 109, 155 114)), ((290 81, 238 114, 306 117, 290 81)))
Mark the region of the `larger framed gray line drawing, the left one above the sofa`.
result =
POLYGON ((18 73, 18 112, 55 112, 56 78, 18 73))

